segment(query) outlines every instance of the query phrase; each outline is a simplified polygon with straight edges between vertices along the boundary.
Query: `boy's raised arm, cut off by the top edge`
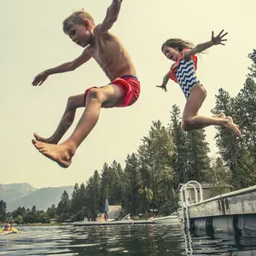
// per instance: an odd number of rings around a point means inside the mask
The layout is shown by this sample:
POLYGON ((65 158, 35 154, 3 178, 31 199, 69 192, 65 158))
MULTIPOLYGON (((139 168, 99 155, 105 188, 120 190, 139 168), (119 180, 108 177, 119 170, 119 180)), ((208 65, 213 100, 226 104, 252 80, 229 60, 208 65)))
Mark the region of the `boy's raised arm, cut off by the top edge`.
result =
POLYGON ((99 26, 100 32, 108 32, 113 26, 113 23, 118 19, 121 3, 123 0, 113 0, 111 5, 108 7, 107 15, 99 26))

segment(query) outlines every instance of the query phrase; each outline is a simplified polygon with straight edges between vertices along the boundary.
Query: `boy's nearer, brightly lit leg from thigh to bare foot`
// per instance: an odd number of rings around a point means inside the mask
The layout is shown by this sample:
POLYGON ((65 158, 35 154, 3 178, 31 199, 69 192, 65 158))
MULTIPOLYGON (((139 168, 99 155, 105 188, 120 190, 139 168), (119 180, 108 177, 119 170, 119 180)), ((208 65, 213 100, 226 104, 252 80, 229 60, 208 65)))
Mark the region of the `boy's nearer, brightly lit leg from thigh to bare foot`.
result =
POLYGON ((122 99, 124 94, 124 89, 115 84, 90 89, 86 98, 84 113, 71 137, 64 143, 58 145, 42 143, 36 140, 33 140, 32 143, 41 153, 57 162, 60 166, 70 166, 71 159, 76 149, 96 125, 102 106, 113 107, 122 99))

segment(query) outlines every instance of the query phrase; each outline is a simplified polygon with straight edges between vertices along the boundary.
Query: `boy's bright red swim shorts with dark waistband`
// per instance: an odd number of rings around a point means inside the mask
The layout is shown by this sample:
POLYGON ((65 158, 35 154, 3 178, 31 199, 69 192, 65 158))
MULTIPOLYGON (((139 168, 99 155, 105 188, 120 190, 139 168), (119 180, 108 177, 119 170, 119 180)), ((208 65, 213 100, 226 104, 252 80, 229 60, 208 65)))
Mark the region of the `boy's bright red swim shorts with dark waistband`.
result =
MULTIPOLYGON (((140 82, 136 77, 131 75, 125 75, 118 79, 114 79, 110 84, 118 85, 120 88, 124 90, 124 97, 118 103, 116 103, 113 107, 119 107, 119 108, 127 107, 137 102, 137 99, 140 96, 141 89, 140 89, 140 82)), ((96 87, 91 87, 91 88, 96 88, 96 87)), ((86 96, 91 88, 85 90, 84 102, 86 102, 86 96)), ((102 107, 102 108, 105 108, 105 107, 102 107)))

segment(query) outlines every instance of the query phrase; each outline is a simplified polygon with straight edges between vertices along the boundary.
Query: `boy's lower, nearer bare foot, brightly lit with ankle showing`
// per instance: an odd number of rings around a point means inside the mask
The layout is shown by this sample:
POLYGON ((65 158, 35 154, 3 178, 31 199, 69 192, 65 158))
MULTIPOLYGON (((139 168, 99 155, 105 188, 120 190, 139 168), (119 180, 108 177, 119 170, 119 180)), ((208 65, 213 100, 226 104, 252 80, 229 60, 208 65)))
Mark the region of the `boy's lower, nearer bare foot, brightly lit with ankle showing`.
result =
POLYGON ((32 143, 39 152, 44 154, 50 160, 54 160, 56 163, 58 163, 59 166, 67 168, 71 165, 71 160, 75 153, 73 148, 69 148, 64 144, 54 145, 49 143, 42 143, 35 139, 32 140, 32 143))

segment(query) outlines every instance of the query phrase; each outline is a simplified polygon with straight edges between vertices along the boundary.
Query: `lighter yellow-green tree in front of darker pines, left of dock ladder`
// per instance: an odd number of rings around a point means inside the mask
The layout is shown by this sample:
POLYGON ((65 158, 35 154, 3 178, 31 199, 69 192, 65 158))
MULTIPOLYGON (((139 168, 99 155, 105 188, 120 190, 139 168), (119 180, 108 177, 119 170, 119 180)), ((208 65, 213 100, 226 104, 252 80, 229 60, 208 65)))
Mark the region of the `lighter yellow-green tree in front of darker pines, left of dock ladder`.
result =
MULTIPOLYGON (((164 204, 165 195, 161 194, 162 187, 159 187, 159 184, 165 183, 166 175, 168 178, 172 177, 172 181, 174 180, 172 170, 173 143, 172 135, 160 123, 160 120, 154 121, 150 127, 148 137, 143 137, 143 145, 139 147, 138 154, 143 176, 143 187, 145 188, 145 185, 147 185, 147 194, 144 192, 144 197, 147 195, 149 199, 151 189, 153 196, 150 201, 164 204)), ((168 183, 167 188, 172 184, 173 182, 168 183)), ((172 198, 169 197, 168 200, 172 201, 172 198)), ((155 206, 151 205, 151 207, 155 206)))

